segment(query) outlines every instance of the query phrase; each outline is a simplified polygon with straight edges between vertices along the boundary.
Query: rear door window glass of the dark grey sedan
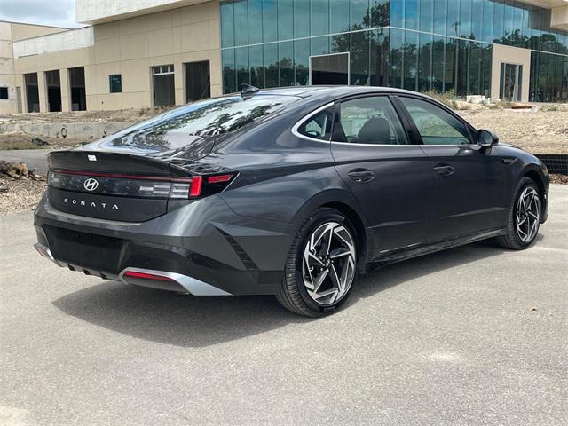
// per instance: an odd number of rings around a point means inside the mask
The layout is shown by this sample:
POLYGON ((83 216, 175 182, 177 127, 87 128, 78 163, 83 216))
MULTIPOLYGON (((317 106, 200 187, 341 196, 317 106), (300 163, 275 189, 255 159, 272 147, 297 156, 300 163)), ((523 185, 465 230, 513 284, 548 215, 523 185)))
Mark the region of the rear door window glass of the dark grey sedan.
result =
POLYGON ((346 100, 340 106, 340 119, 334 140, 353 144, 406 144, 406 134, 398 115, 386 96, 346 100))

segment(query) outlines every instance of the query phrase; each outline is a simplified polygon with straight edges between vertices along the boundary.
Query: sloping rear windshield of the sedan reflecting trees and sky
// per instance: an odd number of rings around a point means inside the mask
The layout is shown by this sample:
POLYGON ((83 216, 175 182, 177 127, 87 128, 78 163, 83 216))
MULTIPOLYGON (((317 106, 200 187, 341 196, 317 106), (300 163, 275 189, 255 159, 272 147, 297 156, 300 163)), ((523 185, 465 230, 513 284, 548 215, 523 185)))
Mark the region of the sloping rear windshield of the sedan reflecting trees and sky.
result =
POLYGON ((244 99, 235 95, 201 100, 121 130, 108 137, 104 145, 148 151, 177 149, 197 138, 239 130, 297 99, 258 94, 244 99))

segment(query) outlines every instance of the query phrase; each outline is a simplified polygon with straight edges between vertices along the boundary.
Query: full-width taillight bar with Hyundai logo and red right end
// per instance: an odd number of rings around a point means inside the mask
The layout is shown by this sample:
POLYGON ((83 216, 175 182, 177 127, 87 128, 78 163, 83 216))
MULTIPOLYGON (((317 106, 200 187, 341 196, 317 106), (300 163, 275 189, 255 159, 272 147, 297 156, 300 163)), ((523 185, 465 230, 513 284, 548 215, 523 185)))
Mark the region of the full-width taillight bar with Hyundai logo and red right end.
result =
POLYGON ((189 200, 224 191, 236 175, 224 173, 213 176, 168 177, 50 170, 47 183, 52 188, 81 193, 189 200))

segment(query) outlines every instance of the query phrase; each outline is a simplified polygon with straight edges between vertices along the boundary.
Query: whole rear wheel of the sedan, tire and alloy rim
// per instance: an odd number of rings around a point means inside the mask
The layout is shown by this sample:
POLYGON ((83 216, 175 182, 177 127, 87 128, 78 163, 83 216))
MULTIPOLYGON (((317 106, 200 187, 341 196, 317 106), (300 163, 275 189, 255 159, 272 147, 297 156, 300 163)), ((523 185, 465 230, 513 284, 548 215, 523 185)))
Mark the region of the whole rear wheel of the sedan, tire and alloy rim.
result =
POLYGON ((335 209, 313 212, 292 243, 277 298, 291 312, 319 317, 334 312, 357 275, 357 244, 349 219, 335 209))

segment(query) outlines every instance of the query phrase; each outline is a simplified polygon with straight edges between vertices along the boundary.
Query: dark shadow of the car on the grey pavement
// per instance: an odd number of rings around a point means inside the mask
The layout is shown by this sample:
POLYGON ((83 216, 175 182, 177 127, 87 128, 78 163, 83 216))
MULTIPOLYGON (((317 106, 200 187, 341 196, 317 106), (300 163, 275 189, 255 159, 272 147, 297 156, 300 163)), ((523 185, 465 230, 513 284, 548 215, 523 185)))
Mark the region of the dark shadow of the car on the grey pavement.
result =
MULTIPOLYGON (((375 296, 408 280, 503 252, 480 242, 392 264, 362 277, 344 308, 357 309, 359 298, 375 296)), ((182 347, 209 346, 291 323, 309 324, 318 320, 286 311, 273 296, 194 297, 114 281, 83 288, 53 304, 62 312, 96 326, 182 347)))

